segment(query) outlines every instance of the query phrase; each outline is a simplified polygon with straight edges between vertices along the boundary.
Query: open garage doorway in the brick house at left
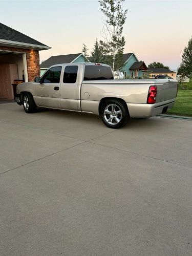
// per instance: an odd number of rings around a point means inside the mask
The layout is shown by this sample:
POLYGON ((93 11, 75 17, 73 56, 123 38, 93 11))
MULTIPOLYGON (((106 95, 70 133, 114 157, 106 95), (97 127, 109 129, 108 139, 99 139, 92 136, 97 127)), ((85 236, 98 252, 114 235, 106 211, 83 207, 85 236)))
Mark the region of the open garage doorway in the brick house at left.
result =
POLYGON ((14 99, 16 84, 28 81, 25 53, 0 51, 0 100, 14 99))

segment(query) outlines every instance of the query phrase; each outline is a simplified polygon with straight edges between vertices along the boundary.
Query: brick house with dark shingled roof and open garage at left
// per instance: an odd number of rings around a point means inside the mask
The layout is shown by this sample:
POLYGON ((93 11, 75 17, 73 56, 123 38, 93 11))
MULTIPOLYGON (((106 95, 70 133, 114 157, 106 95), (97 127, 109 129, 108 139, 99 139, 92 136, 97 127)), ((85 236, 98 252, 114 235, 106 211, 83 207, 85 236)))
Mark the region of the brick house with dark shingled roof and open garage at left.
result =
POLYGON ((14 84, 40 75, 39 51, 51 47, 0 23, 0 98, 14 98, 14 84))

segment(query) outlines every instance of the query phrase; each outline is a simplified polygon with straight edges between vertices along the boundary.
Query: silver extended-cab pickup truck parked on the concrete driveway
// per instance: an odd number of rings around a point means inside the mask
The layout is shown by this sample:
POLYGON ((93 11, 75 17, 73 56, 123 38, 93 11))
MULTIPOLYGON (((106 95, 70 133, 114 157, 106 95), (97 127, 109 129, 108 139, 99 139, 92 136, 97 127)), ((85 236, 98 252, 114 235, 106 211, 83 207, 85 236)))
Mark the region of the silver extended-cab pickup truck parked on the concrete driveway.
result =
POLYGON ((17 86, 16 102, 27 113, 37 108, 100 115, 110 128, 123 126, 130 117, 152 117, 173 107, 174 79, 114 80, 110 66, 100 63, 54 65, 34 82, 17 86))

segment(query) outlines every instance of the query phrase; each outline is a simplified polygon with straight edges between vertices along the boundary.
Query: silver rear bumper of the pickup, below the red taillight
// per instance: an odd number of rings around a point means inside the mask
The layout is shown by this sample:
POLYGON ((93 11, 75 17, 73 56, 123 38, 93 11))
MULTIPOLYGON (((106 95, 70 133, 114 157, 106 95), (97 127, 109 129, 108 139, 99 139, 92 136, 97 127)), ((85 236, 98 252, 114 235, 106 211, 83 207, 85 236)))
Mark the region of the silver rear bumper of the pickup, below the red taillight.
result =
POLYGON ((172 102, 160 102, 156 104, 137 104, 127 103, 127 108, 130 113, 130 117, 152 117, 162 113, 165 113, 168 109, 172 109, 175 104, 175 100, 172 102))

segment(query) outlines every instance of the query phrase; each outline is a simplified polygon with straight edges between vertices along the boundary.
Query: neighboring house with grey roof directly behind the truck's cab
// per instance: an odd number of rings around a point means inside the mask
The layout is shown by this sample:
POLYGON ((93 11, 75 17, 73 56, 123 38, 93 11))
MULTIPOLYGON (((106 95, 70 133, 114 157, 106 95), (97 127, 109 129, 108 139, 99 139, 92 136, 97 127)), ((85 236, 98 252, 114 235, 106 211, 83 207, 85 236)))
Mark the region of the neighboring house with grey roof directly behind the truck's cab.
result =
POLYGON ((89 60, 86 59, 82 53, 51 56, 49 59, 41 63, 40 76, 43 75, 46 72, 46 70, 48 70, 49 67, 51 67, 52 65, 61 64, 61 63, 86 62, 86 61, 89 61, 89 60))

